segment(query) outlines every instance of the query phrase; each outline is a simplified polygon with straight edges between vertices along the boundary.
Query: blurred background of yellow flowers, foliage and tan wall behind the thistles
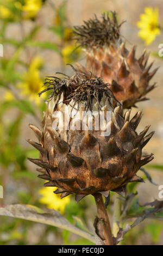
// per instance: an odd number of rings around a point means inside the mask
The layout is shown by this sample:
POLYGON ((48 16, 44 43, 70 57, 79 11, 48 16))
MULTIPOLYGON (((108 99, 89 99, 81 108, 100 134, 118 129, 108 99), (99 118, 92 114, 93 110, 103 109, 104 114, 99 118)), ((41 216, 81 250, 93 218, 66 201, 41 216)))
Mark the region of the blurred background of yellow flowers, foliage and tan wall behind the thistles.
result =
MULTIPOLYGON (((127 47, 137 45, 136 57, 144 48, 150 54, 153 68, 160 66, 153 77, 157 87, 148 94, 149 101, 137 104, 143 110, 143 118, 137 131, 151 124, 155 135, 147 144, 146 151, 154 153, 155 159, 146 166, 153 181, 147 179, 139 184, 140 204, 158 198, 158 187, 163 185, 163 58, 158 56, 159 44, 163 43, 162 33, 145 45, 137 33, 137 21, 146 7, 159 9, 159 24, 163 27, 163 5, 161 0, 0 0, 0 43, 3 57, 0 57, 0 185, 4 188, 4 198, 0 204, 33 204, 59 210, 66 218, 79 226, 92 228, 96 207, 91 196, 76 204, 73 196, 60 200, 52 191, 40 188, 43 181, 37 178, 34 164, 27 157, 37 157, 38 153, 26 142, 34 139, 28 124, 40 126, 46 104, 39 97, 45 76, 55 76, 55 72, 73 74, 67 63, 85 64, 84 52, 72 40, 72 27, 82 25, 96 14, 115 10, 118 20, 126 23, 121 34, 127 47), (52 195, 52 196, 50 196, 52 195), (42 199, 41 199, 42 198, 42 199), (78 217, 78 218, 77 218, 78 217)), ((137 111, 133 109, 132 113, 137 111)), ((142 176, 142 173, 141 173, 142 176)), ((110 218, 114 202, 111 195, 110 218)), ((122 244, 152 245, 163 244, 163 224, 159 220, 146 220, 131 230, 122 244)), ((0 245, 90 245, 91 242, 65 230, 48 227, 8 217, 0 218, 0 245)))

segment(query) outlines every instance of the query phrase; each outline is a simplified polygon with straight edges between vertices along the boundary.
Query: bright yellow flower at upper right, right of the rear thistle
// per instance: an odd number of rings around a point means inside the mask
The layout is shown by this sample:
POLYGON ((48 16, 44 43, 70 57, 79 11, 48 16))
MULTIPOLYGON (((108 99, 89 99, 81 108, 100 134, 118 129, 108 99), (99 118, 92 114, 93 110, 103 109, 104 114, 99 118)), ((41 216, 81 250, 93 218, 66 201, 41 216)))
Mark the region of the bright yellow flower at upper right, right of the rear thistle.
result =
POLYGON ((159 9, 146 7, 145 13, 140 15, 137 27, 141 29, 138 33, 140 38, 145 41, 146 45, 150 45, 155 40, 156 35, 160 34, 159 9))

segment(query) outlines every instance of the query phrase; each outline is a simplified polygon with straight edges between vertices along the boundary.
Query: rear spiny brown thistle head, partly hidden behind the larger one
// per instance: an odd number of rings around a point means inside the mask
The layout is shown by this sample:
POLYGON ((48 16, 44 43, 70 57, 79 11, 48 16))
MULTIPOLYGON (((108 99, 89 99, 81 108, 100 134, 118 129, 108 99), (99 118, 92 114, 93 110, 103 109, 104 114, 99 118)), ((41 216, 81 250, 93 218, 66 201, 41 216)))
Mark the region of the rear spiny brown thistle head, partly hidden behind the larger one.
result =
POLYGON ((112 13, 112 18, 102 15, 99 20, 95 16, 75 27, 77 41, 86 48, 86 67, 77 66, 84 74, 91 70, 92 76, 114 84, 110 89, 116 99, 123 102, 124 108, 130 108, 147 100, 146 94, 155 87, 155 83, 149 82, 158 68, 150 71, 153 63, 147 66, 149 54, 146 51, 136 59, 135 46, 131 50, 126 48, 120 34, 122 23, 118 25, 116 14, 112 13))

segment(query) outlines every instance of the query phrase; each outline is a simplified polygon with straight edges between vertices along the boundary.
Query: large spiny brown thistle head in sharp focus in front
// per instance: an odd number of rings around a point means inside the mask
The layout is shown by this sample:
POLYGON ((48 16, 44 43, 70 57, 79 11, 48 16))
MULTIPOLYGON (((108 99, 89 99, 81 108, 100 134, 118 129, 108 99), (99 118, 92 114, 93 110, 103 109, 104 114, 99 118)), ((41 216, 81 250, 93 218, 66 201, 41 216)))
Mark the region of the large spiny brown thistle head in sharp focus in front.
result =
POLYGON ((75 193, 78 201, 87 194, 122 193, 128 182, 142 181, 136 173, 153 159, 152 154, 142 156, 153 132, 145 136, 147 126, 137 135, 141 112, 131 119, 130 111, 123 115, 120 102, 102 78, 87 78, 76 71, 72 77, 48 78, 45 85, 45 90, 52 89, 52 95, 42 131, 29 125, 39 143, 28 140, 40 151, 40 159, 29 160, 40 167, 39 177, 48 180, 45 186, 58 187, 54 193, 61 193, 61 198, 75 193), (84 110, 89 112, 86 119, 84 110))

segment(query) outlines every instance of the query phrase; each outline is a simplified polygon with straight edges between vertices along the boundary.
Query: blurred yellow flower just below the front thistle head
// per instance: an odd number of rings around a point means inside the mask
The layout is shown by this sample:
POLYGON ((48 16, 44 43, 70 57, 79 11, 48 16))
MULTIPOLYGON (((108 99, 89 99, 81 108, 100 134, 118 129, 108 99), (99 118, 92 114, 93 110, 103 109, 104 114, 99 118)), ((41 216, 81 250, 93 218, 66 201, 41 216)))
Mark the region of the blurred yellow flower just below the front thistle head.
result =
POLYGON ((41 204, 46 204, 47 208, 60 211, 61 214, 65 211, 65 206, 70 202, 70 196, 60 198, 59 194, 54 194, 57 187, 43 187, 39 190, 42 195, 39 202, 41 204))

